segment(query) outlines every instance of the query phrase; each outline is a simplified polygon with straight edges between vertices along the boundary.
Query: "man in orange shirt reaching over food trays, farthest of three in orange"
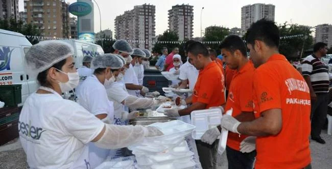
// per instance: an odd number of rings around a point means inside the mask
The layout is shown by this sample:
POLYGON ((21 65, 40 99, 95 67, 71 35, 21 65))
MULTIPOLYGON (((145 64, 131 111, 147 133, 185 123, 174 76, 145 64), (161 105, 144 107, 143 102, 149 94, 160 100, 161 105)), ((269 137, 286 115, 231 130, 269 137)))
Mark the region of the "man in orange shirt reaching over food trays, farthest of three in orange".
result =
MULTIPOLYGON (((209 109, 225 104, 224 75, 215 61, 209 57, 206 47, 194 42, 189 45, 188 57, 192 59, 193 65, 199 70, 199 75, 194 88, 193 95, 181 100, 182 105, 189 105, 187 108, 165 110, 164 114, 171 117, 189 115, 192 111, 209 109)), ((217 156, 217 142, 212 145, 196 141, 198 155, 203 168, 215 168, 212 161, 217 156)))

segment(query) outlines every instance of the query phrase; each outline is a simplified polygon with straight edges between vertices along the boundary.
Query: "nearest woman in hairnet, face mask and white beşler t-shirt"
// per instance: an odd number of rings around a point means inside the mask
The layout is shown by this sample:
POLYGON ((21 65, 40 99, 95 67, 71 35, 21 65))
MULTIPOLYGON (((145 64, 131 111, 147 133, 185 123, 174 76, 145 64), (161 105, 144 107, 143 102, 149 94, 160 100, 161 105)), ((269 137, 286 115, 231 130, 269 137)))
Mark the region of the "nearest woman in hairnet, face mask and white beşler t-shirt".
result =
POLYGON ((31 168, 90 168, 88 142, 118 149, 162 134, 151 127, 106 124, 78 103, 63 99, 61 94, 79 83, 73 53, 66 43, 47 40, 25 56, 27 73, 41 85, 24 103, 18 124, 31 168))

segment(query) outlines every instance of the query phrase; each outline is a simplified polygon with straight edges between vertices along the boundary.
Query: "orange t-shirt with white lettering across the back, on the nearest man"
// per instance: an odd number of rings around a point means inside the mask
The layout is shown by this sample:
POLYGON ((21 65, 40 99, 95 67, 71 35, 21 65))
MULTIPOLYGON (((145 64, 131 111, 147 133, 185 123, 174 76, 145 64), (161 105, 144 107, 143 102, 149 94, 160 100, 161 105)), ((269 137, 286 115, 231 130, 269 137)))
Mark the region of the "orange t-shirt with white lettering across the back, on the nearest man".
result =
POLYGON ((255 168, 308 165, 311 162, 309 87, 286 57, 274 54, 255 70, 253 103, 256 118, 269 109, 281 109, 282 114, 279 134, 257 137, 255 168))

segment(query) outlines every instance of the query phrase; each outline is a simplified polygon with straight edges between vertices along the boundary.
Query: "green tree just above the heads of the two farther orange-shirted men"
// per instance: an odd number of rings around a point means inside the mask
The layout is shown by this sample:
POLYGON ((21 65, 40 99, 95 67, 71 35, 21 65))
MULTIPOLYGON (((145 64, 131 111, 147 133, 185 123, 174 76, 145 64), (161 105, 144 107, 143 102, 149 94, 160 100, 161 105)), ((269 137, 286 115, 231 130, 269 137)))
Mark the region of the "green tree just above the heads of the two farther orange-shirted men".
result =
MULTIPOLYGON (((205 28, 203 41, 223 41, 229 35, 229 29, 221 26, 209 26, 205 28)), ((206 46, 215 49, 217 54, 220 54, 220 44, 208 44, 206 46)))

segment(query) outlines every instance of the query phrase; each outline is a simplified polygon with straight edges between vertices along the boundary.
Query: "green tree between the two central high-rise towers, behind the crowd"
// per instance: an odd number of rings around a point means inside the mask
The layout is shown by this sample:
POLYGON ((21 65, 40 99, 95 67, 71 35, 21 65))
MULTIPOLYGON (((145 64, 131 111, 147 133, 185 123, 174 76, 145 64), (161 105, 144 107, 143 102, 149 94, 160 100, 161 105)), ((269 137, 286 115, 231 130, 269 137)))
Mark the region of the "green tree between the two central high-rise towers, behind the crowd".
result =
MULTIPOLYGON (((172 31, 166 30, 162 35, 158 37, 158 41, 178 41, 179 36, 172 31)), ((180 44, 177 43, 156 43, 152 49, 153 52, 161 53, 161 49, 163 47, 167 47, 169 53, 173 50, 175 47, 179 47, 180 44)))

